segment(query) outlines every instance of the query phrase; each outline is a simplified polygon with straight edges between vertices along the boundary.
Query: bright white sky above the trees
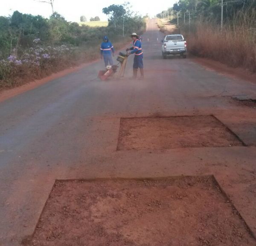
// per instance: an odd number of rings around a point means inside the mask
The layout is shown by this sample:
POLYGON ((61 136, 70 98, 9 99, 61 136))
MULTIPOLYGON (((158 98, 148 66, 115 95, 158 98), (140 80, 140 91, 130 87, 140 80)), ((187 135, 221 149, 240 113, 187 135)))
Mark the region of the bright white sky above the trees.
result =
MULTIPOLYGON (((142 15, 149 13, 151 17, 163 9, 167 9, 175 3, 175 0, 161 1, 160 4, 153 4, 148 0, 130 0, 132 10, 142 15)), ((55 11, 63 15, 68 21, 79 21, 81 15, 85 15, 87 20, 98 15, 102 20, 107 20, 102 14, 102 8, 111 4, 122 4, 121 0, 55 0, 55 11)), ((8 16, 13 11, 20 11, 26 14, 40 14, 49 17, 51 7, 47 3, 38 3, 36 0, 0 0, 0 15, 8 16)))

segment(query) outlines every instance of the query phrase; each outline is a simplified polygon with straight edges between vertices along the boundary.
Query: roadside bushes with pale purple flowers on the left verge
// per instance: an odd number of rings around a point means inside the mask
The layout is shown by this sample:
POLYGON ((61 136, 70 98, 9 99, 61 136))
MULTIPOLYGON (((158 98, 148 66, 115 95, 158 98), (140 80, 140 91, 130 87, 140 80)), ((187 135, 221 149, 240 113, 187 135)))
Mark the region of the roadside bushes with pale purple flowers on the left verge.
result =
POLYGON ((40 78, 63 67, 72 65, 74 48, 66 45, 41 47, 40 40, 34 40, 35 46, 17 57, 10 55, 0 61, 0 88, 9 88, 23 83, 26 79, 40 78))

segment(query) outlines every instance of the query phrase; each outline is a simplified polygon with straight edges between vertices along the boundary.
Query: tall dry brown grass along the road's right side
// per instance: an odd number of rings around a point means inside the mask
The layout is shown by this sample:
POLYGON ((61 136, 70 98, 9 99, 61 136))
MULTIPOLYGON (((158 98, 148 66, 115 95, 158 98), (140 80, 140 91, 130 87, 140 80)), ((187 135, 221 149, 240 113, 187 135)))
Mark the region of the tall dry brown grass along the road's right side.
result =
POLYGON ((256 13, 239 12, 222 30, 219 24, 197 22, 181 27, 192 54, 256 72, 256 13))

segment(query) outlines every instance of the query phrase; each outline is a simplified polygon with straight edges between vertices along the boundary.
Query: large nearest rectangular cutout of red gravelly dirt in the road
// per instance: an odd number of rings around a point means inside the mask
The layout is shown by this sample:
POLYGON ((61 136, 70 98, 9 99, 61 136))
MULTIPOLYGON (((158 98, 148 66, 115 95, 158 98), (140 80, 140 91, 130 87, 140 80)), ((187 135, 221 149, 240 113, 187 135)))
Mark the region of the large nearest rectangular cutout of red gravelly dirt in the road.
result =
POLYGON ((56 181, 25 245, 255 245, 212 176, 56 181))

